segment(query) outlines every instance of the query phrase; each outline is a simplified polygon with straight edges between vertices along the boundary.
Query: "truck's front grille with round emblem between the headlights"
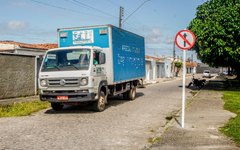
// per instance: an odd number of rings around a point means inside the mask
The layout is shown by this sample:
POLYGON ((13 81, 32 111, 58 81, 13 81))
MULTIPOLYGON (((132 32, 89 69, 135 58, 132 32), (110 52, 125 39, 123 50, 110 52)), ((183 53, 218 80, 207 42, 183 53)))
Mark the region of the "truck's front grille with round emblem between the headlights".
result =
POLYGON ((79 79, 48 79, 48 86, 79 86, 79 79))

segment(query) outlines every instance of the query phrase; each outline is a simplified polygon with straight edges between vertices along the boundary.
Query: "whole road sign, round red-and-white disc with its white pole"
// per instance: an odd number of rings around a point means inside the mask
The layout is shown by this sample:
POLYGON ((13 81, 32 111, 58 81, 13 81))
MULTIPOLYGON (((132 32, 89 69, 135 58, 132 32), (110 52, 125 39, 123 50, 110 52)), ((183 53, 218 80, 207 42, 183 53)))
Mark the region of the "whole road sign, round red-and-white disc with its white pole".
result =
POLYGON ((182 82, 182 128, 184 128, 185 119, 185 82, 186 82, 186 50, 189 50, 195 44, 195 35, 190 30, 181 30, 175 37, 176 45, 183 50, 183 82, 182 82))

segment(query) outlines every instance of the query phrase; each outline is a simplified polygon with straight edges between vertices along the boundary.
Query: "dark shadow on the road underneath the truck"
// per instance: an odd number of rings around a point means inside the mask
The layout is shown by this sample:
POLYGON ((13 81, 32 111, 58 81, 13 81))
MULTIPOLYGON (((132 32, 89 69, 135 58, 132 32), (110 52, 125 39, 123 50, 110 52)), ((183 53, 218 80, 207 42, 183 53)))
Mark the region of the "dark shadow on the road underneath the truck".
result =
MULTIPOLYGON (((142 92, 136 93, 136 99, 142 97, 144 94, 142 92)), ((129 102, 129 100, 123 99, 122 94, 114 97, 108 97, 108 104, 106 105, 106 109, 111 107, 117 107, 124 103, 129 102)), ((81 114, 91 114, 91 113, 98 113, 95 112, 92 108, 92 103, 80 103, 79 105, 65 105, 63 110, 61 111, 54 111, 53 109, 48 109, 46 114, 72 114, 72 113, 81 113, 81 114)))

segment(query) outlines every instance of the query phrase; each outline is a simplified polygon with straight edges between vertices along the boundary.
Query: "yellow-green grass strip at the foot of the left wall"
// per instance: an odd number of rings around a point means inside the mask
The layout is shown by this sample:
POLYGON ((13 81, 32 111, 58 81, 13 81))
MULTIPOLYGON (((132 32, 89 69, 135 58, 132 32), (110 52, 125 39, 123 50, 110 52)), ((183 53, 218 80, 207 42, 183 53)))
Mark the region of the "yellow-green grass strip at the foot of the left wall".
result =
POLYGON ((0 117, 27 116, 48 107, 50 107, 48 102, 41 102, 39 100, 0 105, 0 117))

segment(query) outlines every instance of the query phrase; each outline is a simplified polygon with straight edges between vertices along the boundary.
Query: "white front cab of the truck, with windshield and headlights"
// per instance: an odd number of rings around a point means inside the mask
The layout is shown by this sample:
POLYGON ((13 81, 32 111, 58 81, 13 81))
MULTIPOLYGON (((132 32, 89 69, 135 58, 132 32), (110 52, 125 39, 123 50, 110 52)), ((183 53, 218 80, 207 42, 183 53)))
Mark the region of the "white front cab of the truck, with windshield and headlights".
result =
POLYGON ((63 103, 96 101, 99 95, 105 103, 105 65, 105 53, 99 47, 49 50, 39 73, 40 99, 51 102, 54 110, 61 110, 63 103), (103 90, 99 91, 99 88, 103 90))

